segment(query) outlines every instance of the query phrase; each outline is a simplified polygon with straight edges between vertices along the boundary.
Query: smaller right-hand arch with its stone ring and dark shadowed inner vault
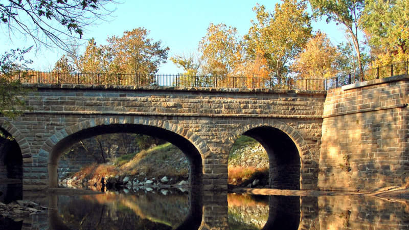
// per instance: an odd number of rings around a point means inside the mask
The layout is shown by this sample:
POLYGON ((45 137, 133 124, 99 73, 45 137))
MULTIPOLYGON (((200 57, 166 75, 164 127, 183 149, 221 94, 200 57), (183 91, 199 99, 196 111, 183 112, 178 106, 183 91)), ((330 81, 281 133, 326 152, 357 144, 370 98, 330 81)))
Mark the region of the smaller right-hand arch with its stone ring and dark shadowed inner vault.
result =
POLYGON ((231 134, 227 148, 231 149, 234 142, 243 134, 253 137, 266 149, 270 161, 269 181, 271 188, 296 190, 316 188, 317 164, 314 164, 312 153, 308 149, 307 142, 296 129, 282 121, 274 119, 252 121, 241 126, 231 134), (276 140, 268 140, 266 136, 271 132, 278 135, 282 139, 282 143, 276 140), (274 144, 269 144, 270 142, 274 144), (276 147, 281 145, 284 146, 281 150, 276 147), (277 152, 280 151, 294 153, 292 153, 292 156, 285 156, 285 153, 278 156, 277 152), (275 165, 274 162, 279 163, 275 165), (290 165, 283 165, 280 169, 280 165, 278 164, 282 164, 282 162, 291 163, 289 163, 290 165), (299 166, 297 164, 299 164, 299 166), (283 171, 284 168, 292 168, 293 170, 291 172, 285 172, 283 171), (299 175, 299 182, 294 181, 297 174, 299 175), (288 179, 287 177, 292 177, 293 179, 288 179), (273 185, 273 182, 275 185, 273 185), (283 186, 280 186, 280 184, 283 184, 283 186))

